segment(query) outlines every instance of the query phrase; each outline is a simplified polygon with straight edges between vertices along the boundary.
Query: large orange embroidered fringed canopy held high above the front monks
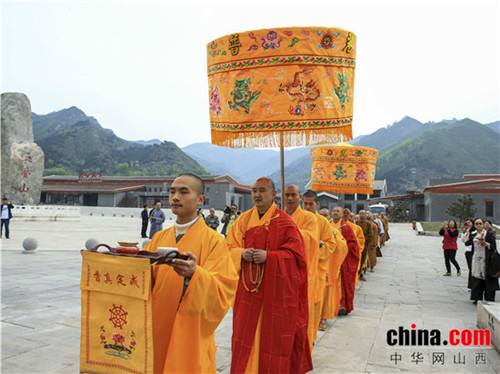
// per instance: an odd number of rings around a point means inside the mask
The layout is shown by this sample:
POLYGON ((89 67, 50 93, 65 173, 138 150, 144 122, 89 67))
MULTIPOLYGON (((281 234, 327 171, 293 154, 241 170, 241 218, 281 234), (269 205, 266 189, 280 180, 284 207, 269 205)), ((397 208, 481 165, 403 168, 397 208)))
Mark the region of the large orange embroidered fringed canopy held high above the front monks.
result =
POLYGON ((207 54, 213 144, 290 147, 352 139, 352 32, 248 31, 212 41, 207 54))

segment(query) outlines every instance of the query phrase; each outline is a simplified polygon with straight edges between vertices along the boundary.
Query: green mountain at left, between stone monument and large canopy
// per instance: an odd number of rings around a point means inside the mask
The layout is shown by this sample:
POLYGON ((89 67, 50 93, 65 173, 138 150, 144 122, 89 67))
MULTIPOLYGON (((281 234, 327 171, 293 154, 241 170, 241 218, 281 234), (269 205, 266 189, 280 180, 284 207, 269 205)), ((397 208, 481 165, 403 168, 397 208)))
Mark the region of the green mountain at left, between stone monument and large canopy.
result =
POLYGON ((35 142, 45 153, 45 172, 105 175, 206 174, 203 167, 173 142, 140 144, 116 136, 95 118, 71 107, 47 115, 32 114, 35 142))

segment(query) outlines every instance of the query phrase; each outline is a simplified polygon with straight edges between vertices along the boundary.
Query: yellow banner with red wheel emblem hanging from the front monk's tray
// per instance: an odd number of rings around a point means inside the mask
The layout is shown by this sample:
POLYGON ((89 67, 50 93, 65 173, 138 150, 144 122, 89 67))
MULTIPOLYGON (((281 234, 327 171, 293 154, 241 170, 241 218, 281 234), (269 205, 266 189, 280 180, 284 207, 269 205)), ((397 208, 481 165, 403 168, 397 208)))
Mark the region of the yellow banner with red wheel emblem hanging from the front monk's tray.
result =
POLYGON ((149 259, 82 251, 80 372, 152 373, 149 259))

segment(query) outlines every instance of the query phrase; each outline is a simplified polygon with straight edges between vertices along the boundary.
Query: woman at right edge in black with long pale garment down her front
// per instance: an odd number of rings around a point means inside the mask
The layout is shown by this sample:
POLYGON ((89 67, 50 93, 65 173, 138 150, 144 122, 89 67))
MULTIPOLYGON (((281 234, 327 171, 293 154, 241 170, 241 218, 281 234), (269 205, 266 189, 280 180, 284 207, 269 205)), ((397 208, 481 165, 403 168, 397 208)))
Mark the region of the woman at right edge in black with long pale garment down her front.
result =
POLYGON ((483 220, 474 221, 475 232, 469 230, 466 245, 472 244, 472 290, 470 299, 477 304, 478 300, 495 301, 495 292, 499 289, 498 279, 490 277, 487 269, 492 255, 497 250, 495 237, 483 227, 483 220))

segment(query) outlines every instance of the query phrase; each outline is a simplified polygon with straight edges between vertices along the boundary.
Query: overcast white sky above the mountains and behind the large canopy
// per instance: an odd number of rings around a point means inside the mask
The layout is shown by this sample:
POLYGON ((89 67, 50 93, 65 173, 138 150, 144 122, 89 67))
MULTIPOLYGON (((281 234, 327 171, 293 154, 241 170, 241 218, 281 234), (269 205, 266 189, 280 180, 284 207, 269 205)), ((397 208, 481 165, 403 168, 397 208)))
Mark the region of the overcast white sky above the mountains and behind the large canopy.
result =
POLYGON ((206 45, 331 26, 357 36, 354 136, 400 120, 499 115, 498 0, 2 1, 2 92, 77 106, 127 140, 210 141, 206 45))

